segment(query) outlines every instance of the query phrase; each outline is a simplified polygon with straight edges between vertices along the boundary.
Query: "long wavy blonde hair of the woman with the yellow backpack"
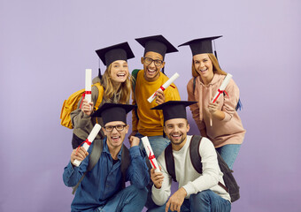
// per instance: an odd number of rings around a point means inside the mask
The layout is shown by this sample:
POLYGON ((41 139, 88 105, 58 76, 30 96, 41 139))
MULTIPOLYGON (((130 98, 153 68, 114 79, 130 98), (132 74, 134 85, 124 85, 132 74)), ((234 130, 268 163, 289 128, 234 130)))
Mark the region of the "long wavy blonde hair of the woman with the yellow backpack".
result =
POLYGON ((131 95, 131 77, 128 74, 127 79, 121 83, 118 90, 114 89, 111 78, 112 64, 107 66, 104 75, 101 79, 101 84, 104 87, 104 100, 105 102, 112 102, 113 96, 120 93, 119 103, 128 103, 131 95))

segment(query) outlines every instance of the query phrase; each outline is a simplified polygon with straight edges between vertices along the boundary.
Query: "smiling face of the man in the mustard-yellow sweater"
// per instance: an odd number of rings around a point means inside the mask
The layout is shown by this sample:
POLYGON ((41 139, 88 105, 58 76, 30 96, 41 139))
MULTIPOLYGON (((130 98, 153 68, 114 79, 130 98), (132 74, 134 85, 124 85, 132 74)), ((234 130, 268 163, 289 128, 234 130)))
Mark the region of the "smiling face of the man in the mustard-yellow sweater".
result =
POLYGON ((153 61, 151 64, 147 64, 144 61, 145 57, 151 58, 152 60, 160 60, 160 61, 163 61, 163 57, 157 52, 148 51, 145 53, 144 57, 141 58, 141 63, 143 64, 143 70, 144 70, 144 79, 147 81, 155 81, 158 79, 160 75, 160 70, 164 67, 165 62, 163 62, 160 65, 155 65, 155 61, 153 61))

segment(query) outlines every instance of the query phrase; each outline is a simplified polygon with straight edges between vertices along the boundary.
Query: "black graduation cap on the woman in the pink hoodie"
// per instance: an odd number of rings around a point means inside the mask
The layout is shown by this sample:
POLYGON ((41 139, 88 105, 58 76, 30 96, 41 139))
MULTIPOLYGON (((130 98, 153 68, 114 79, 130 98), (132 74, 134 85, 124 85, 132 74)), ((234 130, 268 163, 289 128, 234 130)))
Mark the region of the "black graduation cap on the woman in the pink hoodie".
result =
POLYGON ((214 37, 198 38, 190 42, 185 42, 178 47, 189 45, 193 56, 198 54, 203 54, 203 53, 213 53, 212 40, 220 38, 221 36, 222 35, 214 36, 214 37))

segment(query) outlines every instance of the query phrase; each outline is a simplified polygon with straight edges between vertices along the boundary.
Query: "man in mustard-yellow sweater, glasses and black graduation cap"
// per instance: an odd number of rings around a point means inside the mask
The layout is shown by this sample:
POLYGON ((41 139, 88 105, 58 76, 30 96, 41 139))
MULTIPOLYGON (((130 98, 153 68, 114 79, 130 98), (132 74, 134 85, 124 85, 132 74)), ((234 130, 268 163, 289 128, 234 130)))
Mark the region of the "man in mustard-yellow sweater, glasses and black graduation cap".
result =
MULTIPOLYGON (((172 84, 165 91, 158 91, 153 102, 147 99, 161 87, 168 78, 164 74, 166 53, 178 51, 162 35, 135 39, 144 47, 144 56, 141 58, 143 70, 136 73, 135 90, 133 90, 133 104, 137 105, 132 112, 133 132, 139 138, 148 136, 154 155, 158 157, 169 144, 169 140, 163 137, 163 114, 162 111, 151 110, 167 101, 180 100, 177 87, 172 84), (162 69, 162 72, 160 72, 162 69)), ((135 71, 133 71, 135 72, 135 71)), ((132 72, 132 75, 134 73, 132 72)), ((174 72, 169 72, 174 74, 174 72)), ((142 144, 141 144, 142 148, 142 144)))

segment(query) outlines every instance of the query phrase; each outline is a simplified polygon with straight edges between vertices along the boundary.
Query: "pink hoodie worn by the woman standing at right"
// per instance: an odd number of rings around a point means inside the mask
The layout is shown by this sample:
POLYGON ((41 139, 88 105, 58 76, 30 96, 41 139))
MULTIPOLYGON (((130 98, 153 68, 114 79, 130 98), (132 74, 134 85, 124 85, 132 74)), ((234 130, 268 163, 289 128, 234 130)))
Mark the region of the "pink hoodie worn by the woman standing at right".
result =
POLYGON ((205 129, 215 148, 220 148, 226 144, 241 144, 245 133, 242 121, 235 111, 239 99, 239 89, 233 79, 230 79, 225 89, 229 97, 221 94, 218 99, 220 102, 219 110, 225 113, 225 118, 220 121, 212 117, 212 126, 210 126, 208 105, 224 78, 225 75, 214 73, 212 81, 205 86, 198 76, 194 94, 193 79, 190 79, 187 85, 188 100, 197 101, 196 104, 190 105, 192 117, 200 131, 205 129))

